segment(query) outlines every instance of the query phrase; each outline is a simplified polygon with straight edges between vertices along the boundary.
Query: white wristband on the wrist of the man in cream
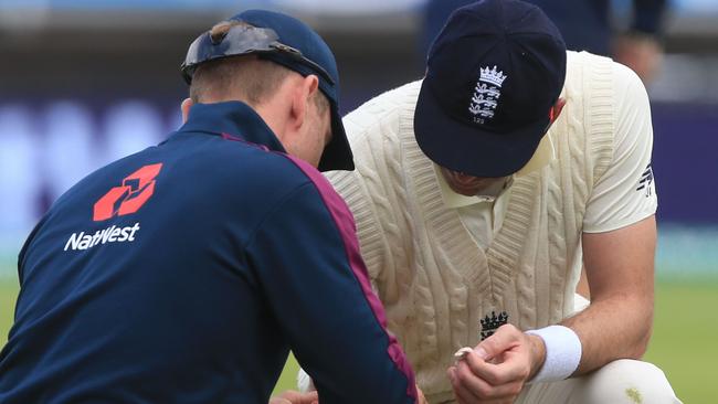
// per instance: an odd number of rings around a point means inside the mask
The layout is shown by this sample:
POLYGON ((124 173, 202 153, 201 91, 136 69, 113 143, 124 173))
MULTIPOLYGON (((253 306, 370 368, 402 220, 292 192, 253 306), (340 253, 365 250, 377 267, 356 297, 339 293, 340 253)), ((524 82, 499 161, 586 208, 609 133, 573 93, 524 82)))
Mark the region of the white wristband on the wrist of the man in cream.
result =
POLYGON ((531 383, 556 382, 567 379, 581 361, 581 340, 572 329, 563 326, 549 326, 526 333, 541 337, 546 345, 546 360, 531 383))

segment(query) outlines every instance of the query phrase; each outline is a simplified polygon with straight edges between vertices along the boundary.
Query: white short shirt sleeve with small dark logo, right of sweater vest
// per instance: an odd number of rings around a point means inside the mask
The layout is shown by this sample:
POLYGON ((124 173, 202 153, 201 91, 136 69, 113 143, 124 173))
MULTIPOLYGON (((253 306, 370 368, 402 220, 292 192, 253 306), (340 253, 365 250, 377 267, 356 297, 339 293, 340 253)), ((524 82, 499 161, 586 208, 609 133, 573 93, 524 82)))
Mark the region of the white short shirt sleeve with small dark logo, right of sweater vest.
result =
POLYGON ((583 231, 610 232, 656 213, 651 153, 653 126, 643 83, 629 67, 614 63, 615 137, 613 161, 589 198, 583 231))

